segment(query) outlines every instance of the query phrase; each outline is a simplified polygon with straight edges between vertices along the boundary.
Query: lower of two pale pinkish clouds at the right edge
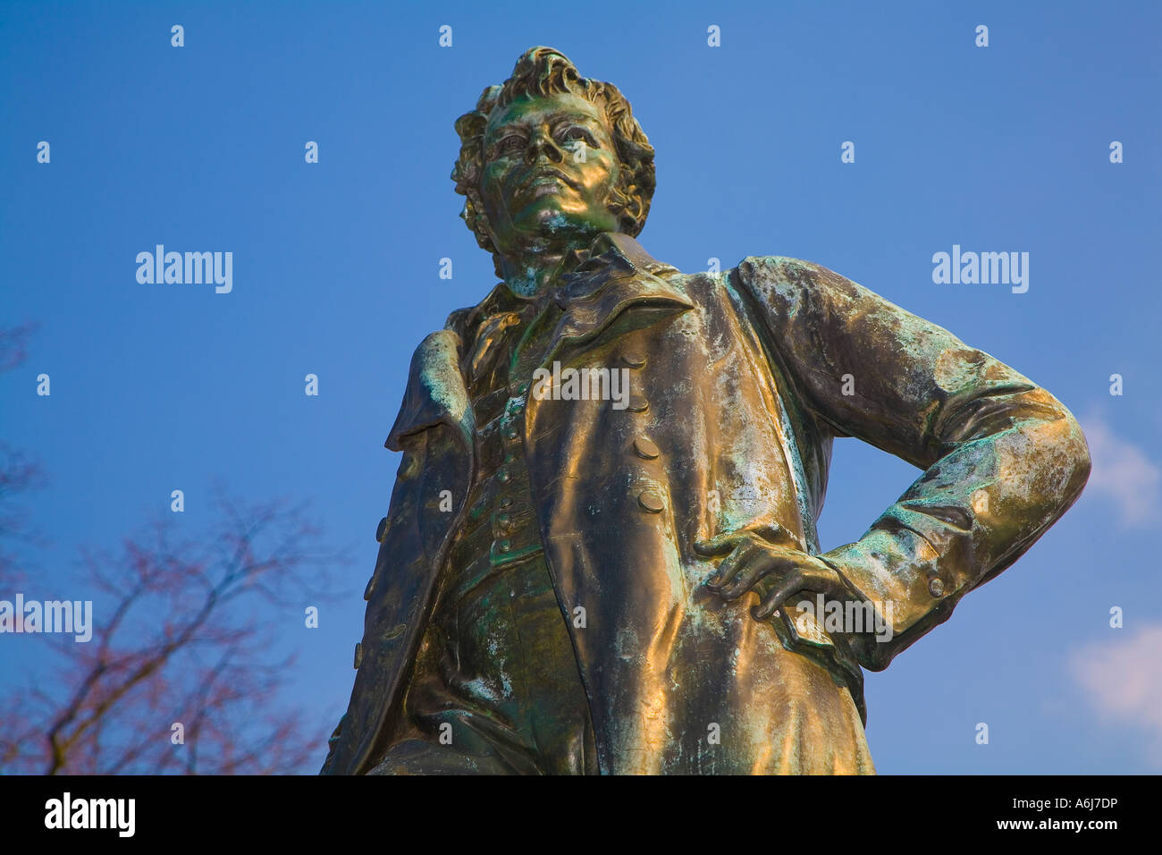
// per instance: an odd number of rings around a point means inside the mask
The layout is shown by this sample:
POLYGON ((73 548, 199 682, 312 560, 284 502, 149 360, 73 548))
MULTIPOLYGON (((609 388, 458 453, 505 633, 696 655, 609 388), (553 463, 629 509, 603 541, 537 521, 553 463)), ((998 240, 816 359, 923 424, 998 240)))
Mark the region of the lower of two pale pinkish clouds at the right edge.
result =
POLYGON ((1069 670, 1086 698, 1109 724, 1147 733, 1152 762, 1162 768, 1162 625, 1148 625, 1117 641, 1083 647, 1070 656, 1069 670))

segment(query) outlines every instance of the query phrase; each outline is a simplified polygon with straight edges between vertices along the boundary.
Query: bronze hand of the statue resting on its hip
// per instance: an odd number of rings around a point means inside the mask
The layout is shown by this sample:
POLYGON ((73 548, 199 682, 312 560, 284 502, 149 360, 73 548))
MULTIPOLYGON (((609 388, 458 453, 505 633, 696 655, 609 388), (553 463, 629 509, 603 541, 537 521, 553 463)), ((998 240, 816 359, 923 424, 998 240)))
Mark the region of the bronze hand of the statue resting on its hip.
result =
POLYGON ((751 532, 738 532, 698 541, 694 550, 702 556, 729 555, 706 587, 724 600, 747 591, 759 594, 751 610, 755 620, 767 620, 795 594, 809 591, 831 599, 847 599, 851 591, 834 569, 798 549, 770 543, 751 532))

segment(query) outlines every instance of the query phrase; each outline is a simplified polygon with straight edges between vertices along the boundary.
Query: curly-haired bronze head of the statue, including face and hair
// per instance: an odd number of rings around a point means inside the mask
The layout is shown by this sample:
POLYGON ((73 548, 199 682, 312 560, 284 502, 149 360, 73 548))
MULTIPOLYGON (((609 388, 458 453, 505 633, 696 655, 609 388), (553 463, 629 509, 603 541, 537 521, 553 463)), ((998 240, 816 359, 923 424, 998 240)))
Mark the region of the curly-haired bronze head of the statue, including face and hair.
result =
POLYGON ((602 231, 641 231, 653 148, 617 87, 581 77, 560 52, 525 51, 456 129, 460 215, 493 254, 497 276, 504 257, 584 247, 602 231))

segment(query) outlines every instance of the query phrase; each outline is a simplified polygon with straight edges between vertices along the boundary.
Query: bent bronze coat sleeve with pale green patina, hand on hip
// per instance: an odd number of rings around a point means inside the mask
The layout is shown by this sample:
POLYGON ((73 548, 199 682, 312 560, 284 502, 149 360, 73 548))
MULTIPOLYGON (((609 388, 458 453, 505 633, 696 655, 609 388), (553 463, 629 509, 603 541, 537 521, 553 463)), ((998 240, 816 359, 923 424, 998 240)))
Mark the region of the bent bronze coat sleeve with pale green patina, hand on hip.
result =
POLYGON ((1028 378, 838 273, 768 256, 736 275, 802 404, 924 470, 862 537, 818 556, 890 627, 851 636, 882 670, 1073 505, 1085 437, 1028 378))

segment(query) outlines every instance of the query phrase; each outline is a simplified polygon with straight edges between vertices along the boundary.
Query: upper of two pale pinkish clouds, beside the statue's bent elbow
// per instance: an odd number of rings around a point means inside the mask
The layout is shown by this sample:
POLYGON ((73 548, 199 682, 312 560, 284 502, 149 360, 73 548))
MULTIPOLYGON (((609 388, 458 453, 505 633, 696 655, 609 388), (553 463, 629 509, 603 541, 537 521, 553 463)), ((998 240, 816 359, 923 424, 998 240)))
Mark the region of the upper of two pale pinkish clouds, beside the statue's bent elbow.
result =
POLYGON ((1112 501, 1124 528, 1155 523, 1162 508, 1162 470, 1134 443, 1113 433, 1099 415, 1082 420, 1093 470, 1086 493, 1112 501))

